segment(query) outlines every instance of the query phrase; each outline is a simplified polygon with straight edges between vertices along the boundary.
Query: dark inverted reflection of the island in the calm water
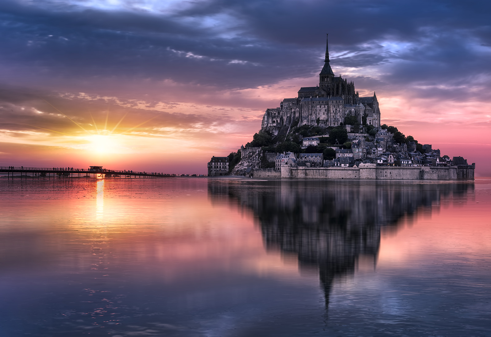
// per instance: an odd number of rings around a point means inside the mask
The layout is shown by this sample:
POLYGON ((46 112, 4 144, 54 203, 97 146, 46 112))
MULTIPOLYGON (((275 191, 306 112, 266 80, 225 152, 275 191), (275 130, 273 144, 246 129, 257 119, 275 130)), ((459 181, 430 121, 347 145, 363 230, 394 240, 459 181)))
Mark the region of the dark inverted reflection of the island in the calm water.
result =
POLYGON ((472 183, 210 180, 212 201, 233 200, 258 218, 265 245, 298 256, 300 269, 316 268, 325 294, 360 261, 375 267, 382 230, 403 218, 435 211, 449 196, 474 191, 472 183))

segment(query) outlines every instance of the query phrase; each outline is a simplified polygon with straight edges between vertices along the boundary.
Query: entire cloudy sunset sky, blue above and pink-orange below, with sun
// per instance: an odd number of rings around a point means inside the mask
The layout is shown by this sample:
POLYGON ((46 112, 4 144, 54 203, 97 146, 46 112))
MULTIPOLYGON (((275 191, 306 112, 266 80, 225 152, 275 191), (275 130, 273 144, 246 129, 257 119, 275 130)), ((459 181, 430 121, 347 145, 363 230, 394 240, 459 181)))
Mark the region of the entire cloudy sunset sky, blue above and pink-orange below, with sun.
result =
POLYGON ((2 0, 0 166, 206 173, 336 76, 491 176, 489 1, 2 0))

